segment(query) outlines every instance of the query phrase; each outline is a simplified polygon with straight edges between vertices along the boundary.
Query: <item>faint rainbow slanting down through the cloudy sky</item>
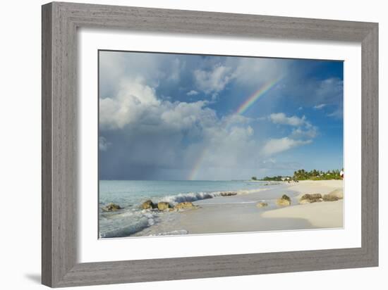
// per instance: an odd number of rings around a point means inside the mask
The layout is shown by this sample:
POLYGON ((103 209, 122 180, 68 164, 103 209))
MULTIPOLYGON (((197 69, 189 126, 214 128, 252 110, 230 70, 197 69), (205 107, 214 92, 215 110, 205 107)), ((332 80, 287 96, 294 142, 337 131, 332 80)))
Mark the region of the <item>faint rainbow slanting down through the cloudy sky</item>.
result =
MULTIPOLYGON (((232 114, 232 115, 241 115, 243 113, 245 113, 248 108, 250 108, 251 106, 253 106, 253 104, 258 100, 260 99, 261 96, 263 96, 265 93, 267 93, 270 89, 272 89, 272 87, 274 87, 276 84, 278 84, 280 82, 282 78, 279 77, 277 78, 276 80, 272 80, 270 82, 267 82, 266 84, 264 84, 262 87, 260 87, 259 89, 257 89, 257 91, 255 91, 253 94, 251 94, 250 96, 248 96, 247 99, 245 99, 245 101, 243 101, 243 103, 241 103, 240 106, 238 106, 237 110, 232 114)), ((232 118, 231 118, 232 119, 232 118)), ((227 127, 229 125, 228 122, 226 122, 226 125, 225 127, 227 127)), ((205 147, 205 149, 203 149, 203 151, 200 153, 200 155, 198 156, 198 159, 195 161, 194 165, 193 165, 193 168, 191 168, 190 170, 190 173, 188 175, 188 180, 195 180, 197 175, 198 175, 198 172, 200 171, 200 168, 201 168, 201 164, 202 164, 202 161, 205 159, 205 157, 207 156, 207 153, 208 153, 208 149, 205 147)))

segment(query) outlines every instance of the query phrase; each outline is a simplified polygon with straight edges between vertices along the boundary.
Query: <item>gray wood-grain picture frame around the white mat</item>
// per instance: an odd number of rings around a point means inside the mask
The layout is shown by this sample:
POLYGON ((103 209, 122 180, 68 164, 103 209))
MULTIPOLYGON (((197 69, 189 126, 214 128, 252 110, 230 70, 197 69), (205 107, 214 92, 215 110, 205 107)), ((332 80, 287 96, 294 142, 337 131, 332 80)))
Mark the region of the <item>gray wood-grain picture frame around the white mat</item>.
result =
POLYGON ((377 23, 59 2, 42 6, 42 283, 63 287, 377 266, 377 106, 377 23), (78 27, 360 43, 362 246, 77 263, 78 27))

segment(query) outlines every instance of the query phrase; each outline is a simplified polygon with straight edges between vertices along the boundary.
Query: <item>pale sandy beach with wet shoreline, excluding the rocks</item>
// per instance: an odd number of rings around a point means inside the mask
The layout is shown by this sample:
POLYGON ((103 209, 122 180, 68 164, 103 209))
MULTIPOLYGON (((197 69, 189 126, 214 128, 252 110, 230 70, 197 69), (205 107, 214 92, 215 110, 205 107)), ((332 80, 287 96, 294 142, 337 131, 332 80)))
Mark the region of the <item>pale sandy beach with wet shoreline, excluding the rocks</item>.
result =
POLYGON ((135 236, 181 231, 186 234, 257 232, 292 229, 338 228, 343 226, 343 201, 298 204, 303 194, 329 194, 342 191, 341 180, 283 183, 268 190, 239 196, 218 196, 195 202, 200 208, 167 213, 157 227, 135 236), (276 199, 291 197, 291 206, 279 207, 276 199), (268 206, 256 205, 265 201, 268 206))

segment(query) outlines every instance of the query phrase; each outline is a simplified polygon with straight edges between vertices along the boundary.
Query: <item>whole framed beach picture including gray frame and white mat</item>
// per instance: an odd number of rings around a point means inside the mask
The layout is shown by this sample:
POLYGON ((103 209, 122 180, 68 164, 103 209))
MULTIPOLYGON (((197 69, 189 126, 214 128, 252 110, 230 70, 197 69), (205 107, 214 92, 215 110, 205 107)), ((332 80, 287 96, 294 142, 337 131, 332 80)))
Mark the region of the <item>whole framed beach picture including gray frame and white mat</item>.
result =
POLYGON ((42 6, 42 283, 378 265, 378 25, 42 6))

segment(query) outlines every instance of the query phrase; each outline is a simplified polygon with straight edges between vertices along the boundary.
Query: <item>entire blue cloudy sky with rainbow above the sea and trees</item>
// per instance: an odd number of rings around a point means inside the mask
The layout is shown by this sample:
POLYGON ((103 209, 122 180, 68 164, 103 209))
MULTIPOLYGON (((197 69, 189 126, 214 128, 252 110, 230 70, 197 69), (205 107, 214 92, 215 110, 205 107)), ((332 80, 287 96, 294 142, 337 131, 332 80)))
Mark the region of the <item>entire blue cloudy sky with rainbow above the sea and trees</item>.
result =
POLYGON ((343 62, 99 51, 99 179, 343 167, 343 62))

